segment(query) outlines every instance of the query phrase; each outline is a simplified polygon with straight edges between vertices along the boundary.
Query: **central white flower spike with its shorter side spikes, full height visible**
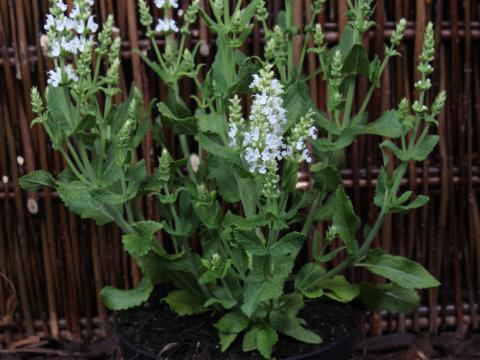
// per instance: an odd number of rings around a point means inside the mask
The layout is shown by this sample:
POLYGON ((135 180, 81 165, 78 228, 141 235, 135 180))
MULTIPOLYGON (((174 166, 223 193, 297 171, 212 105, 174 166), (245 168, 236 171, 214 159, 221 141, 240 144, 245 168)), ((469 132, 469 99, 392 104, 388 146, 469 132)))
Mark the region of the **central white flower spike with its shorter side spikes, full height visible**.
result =
POLYGON ((242 150, 242 155, 252 173, 267 174, 264 194, 275 193, 278 170, 277 162, 284 158, 294 161, 310 161, 306 150, 306 142, 316 138, 313 127, 312 112, 302 117, 285 136, 287 118, 283 105, 283 87, 275 79, 272 65, 266 65, 259 74, 253 76, 250 88, 256 91, 248 118, 242 118, 240 100, 234 97, 230 100, 229 138, 231 146, 242 150), (287 142, 285 142, 287 139, 287 142))

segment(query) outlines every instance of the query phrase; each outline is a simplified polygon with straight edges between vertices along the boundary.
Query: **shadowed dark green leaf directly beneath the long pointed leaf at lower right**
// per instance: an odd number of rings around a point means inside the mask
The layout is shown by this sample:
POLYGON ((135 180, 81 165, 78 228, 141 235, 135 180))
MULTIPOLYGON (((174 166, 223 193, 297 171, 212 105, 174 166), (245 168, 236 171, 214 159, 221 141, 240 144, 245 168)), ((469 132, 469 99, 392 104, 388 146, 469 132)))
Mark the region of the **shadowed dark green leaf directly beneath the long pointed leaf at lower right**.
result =
POLYGON ((396 284, 360 284, 359 299, 374 311, 409 313, 420 305, 420 297, 414 289, 405 289, 396 284))

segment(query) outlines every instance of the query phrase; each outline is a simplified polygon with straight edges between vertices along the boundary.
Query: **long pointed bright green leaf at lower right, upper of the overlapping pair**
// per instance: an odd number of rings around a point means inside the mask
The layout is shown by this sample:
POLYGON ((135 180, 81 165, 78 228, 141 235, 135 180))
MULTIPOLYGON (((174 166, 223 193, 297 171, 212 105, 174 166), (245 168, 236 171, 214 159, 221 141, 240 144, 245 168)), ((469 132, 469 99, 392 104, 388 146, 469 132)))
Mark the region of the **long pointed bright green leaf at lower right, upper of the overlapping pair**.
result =
POLYGON ((366 267, 374 274, 407 289, 425 289, 440 285, 422 265, 379 249, 371 250, 365 260, 356 266, 366 267))

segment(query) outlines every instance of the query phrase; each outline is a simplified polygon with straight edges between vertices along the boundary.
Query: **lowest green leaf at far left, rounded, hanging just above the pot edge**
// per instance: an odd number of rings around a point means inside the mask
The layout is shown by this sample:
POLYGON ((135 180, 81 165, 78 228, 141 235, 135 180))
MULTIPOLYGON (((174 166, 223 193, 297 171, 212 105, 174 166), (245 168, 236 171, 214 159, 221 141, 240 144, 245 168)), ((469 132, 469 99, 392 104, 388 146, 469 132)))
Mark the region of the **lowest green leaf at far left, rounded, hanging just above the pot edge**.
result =
POLYGON ((106 286, 100 291, 100 299, 110 310, 126 310, 143 304, 152 291, 152 282, 148 277, 144 277, 134 289, 121 290, 106 286))

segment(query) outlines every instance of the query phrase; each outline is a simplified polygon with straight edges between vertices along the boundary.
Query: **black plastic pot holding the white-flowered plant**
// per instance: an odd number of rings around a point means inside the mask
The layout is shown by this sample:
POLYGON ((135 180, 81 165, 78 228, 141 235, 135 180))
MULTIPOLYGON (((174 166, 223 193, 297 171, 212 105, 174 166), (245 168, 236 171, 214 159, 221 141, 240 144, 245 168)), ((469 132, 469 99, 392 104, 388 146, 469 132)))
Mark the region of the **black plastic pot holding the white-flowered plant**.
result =
MULTIPOLYGON (((355 340, 359 331, 352 330, 344 338, 310 354, 289 357, 284 360, 350 360, 353 356, 355 340)), ((129 343, 121 335, 118 337, 120 349, 124 360, 155 360, 156 357, 135 345, 129 343)), ((213 360, 213 359, 212 359, 213 360)))

